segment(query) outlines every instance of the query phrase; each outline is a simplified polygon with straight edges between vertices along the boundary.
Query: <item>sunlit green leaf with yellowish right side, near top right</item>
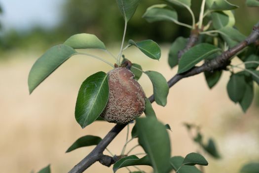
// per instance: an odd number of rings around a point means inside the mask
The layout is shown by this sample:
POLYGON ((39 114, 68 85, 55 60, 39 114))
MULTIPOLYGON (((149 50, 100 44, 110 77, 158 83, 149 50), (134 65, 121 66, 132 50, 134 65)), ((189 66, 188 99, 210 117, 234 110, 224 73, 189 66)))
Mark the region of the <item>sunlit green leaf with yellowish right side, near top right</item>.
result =
POLYGON ((231 10, 216 11, 212 15, 213 27, 221 29, 223 27, 233 27, 235 25, 235 16, 231 10))

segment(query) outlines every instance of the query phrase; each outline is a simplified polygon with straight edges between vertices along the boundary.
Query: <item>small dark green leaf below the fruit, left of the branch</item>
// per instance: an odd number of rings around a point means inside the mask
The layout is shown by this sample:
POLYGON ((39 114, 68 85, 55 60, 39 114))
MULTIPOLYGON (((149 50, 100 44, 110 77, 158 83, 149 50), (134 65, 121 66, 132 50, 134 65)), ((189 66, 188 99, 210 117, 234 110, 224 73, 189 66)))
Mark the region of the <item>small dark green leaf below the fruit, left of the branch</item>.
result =
POLYGON ((86 146, 91 146, 91 145, 97 145, 100 141, 102 140, 101 137, 98 136, 92 136, 92 135, 86 135, 83 137, 80 137, 77 139, 66 151, 66 153, 71 152, 77 148, 80 147, 86 147, 86 146))

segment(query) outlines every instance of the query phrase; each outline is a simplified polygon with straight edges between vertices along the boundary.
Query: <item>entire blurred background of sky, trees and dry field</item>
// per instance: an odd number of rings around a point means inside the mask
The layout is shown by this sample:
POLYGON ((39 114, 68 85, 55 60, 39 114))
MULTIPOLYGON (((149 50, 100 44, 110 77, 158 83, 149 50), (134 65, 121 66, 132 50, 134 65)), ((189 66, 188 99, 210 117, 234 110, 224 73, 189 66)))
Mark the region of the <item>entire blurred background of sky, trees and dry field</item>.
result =
MULTIPOLYGON (((248 35, 253 24, 258 22, 259 10, 247 8, 244 0, 229 1, 240 6, 235 10, 236 27, 248 35)), ((148 24, 142 19, 146 8, 156 3, 162 1, 142 0, 129 22, 126 40, 158 42, 162 47, 160 61, 148 59, 133 47, 124 54, 132 62, 141 64, 144 70, 156 70, 169 80, 177 71, 167 64, 170 44, 178 36, 188 37, 189 31, 172 23, 148 24)), ((30 173, 51 164, 53 173, 66 173, 93 149, 80 148, 65 154, 77 138, 87 134, 104 137, 114 126, 96 122, 82 130, 74 119, 81 83, 89 75, 97 71, 108 72, 111 68, 90 57, 75 56, 32 95, 27 87, 29 71, 47 48, 82 32, 97 35, 116 54, 123 32, 122 17, 115 0, 37 0, 37 3, 33 0, 1 0, 0 6, 3 11, 0 14, 0 172, 30 173)), ((192 8, 196 14, 199 6, 200 0, 195 0, 192 8)), ((185 11, 179 18, 183 22, 190 19, 185 11)), ((112 60, 101 51, 90 52, 112 60)), ((185 156, 199 150, 189 138, 184 122, 200 125, 206 139, 215 139, 222 159, 215 160, 204 154, 209 161, 206 173, 238 173, 243 164, 259 160, 259 88, 256 87, 253 105, 244 114, 227 96, 229 75, 224 72, 212 90, 202 74, 184 79, 170 89, 166 107, 153 104, 159 120, 172 128, 169 134, 173 156, 185 156)), ((152 87, 148 78, 143 75, 139 82, 149 96, 152 87)), ((120 154, 125 135, 126 129, 108 146, 113 154, 120 154)), ((127 148, 136 143, 134 140, 127 148)), ((139 147, 132 154, 141 152, 139 147)), ((148 167, 140 168, 152 172, 148 167)), ((125 172, 128 171, 118 171, 125 172)), ((112 169, 95 163, 86 173, 112 173, 112 169)))

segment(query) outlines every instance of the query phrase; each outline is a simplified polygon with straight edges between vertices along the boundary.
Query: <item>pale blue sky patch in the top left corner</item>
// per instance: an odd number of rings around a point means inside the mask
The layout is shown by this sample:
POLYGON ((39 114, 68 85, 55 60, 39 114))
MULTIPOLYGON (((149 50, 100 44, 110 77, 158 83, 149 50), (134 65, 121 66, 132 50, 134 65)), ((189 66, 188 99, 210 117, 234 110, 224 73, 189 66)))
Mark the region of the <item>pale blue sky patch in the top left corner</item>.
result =
POLYGON ((60 5, 65 0, 0 0, 4 30, 27 30, 35 25, 51 28, 60 21, 60 5))

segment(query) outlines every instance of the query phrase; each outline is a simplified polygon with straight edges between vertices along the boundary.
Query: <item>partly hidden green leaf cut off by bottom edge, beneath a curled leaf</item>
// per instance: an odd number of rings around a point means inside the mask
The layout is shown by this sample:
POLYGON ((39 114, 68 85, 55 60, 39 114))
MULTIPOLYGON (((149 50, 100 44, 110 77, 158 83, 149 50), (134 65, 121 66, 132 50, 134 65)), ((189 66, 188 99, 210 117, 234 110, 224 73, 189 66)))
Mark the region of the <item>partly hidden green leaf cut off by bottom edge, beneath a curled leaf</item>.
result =
MULTIPOLYGON (((182 166, 182 163, 184 161, 184 158, 181 156, 175 156, 170 159, 171 169, 174 169, 177 171, 180 167, 182 167, 177 173, 201 173, 200 170, 198 170, 195 166, 182 166)), ((168 173, 170 172, 168 171, 168 173)))

